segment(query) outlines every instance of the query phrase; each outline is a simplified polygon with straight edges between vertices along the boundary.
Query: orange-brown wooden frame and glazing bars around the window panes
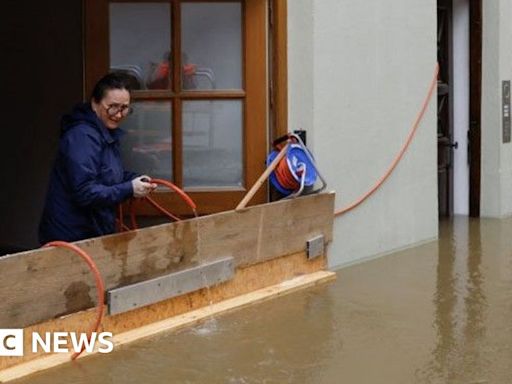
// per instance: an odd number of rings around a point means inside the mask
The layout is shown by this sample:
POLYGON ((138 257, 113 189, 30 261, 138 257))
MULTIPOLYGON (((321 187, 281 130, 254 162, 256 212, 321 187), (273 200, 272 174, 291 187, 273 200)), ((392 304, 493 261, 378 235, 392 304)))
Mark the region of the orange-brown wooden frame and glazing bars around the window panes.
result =
MULTIPOLYGON (((109 3, 116 2, 164 2, 171 4, 172 13, 172 52, 176 63, 173 73, 173 90, 180 91, 180 55, 181 36, 177 15, 180 3, 205 2, 212 0, 87 0, 85 2, 85 73, 84 99, 88 99, 94 84, 109 70, 109 3), (177 32, 178 31, 178 32, 177 32)), ((221 0, 229 2, 232 0, 221 0)), ((235 0, 233 0, 235 1, 235 0)), ((236 0, 238 2, 238 0, 236 0)), ((273 0, 270 0, 273 1, 273 0)), ((183 151, 181 145, 181 101, 182 100, 243 100, 243 183, 242 188, 198 188, 186 189, 198 206, 200 214, 214 213, 233 209, 265 169, 264 159, 267 153, 268 127, 268 82, 267 82, 267 8, 265 0, 241 0, 243 5, 243 91, 183 91, 174 94, 168 90, 143 91, 134 93, 133 100, 155 99, 159 97, 173 98, 173 177, 178 186, 183 185, 183 151), (179 113, 177 113, 179 111, 179 113)), ((153 198, 163 206, 173 207, 177 214, 188 213, 188 208, 173 192, 162 191, 153 194, 153 198)), ((251 200, 251 204, 267 201, 267 190, 261 188, 251 200)), ((151 215, 155 211, 151 207, 138 208, 140 214, 151 215)))

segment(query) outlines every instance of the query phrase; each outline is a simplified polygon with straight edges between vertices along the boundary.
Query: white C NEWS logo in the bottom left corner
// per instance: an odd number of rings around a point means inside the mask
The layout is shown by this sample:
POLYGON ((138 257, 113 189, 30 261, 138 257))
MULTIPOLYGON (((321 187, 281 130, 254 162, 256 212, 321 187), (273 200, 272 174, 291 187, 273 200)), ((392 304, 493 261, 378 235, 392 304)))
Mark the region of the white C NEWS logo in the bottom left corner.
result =
MULTIPOLYGON (((45 332, 31 334, 32 353, 93 352, 96 346, 99 353, 110 353, 114 349, 111 332, 45 332)), ((0 329, 0 356, 23 356, 23 329, 0 329)))

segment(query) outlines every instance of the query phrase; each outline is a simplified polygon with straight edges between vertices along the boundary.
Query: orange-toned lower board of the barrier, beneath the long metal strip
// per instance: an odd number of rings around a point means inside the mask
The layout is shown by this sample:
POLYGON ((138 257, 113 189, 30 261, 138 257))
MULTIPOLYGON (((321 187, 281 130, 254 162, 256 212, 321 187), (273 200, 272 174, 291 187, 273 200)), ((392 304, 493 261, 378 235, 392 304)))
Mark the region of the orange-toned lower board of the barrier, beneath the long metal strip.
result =
MULTIPOLYGON (((304 252, 279 257, 249 267, 240 268, 236 271, 234 279, 216 285, 210 289, 201 289, 187 295, 171 298, 119 315, 106 316, 102 322, 102 330, 117 335, 202 308, 211 303, 218 303, 325 268, 325 257, 308 261, 304 252)), ((95 309, 81 311, 26 327, 25 334, 63 330, 69 332, 86 332, 94 322, 95 316, 95 309)), ((30 348, 30 339, 25 338, 25 351, 30 351, 30 348)), ((38 357, 41 357, 41 354, 36 355, 30 352, 25 353, 23 357, 0 357, 0 370, 34 360, 38 357)))

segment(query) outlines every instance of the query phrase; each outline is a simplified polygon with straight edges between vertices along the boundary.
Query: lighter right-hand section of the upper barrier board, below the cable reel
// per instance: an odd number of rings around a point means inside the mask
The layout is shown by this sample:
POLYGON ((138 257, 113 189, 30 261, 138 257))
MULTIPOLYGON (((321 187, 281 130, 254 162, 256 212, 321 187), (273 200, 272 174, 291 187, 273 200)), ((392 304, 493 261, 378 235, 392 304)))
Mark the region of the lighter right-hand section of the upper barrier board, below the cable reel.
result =
POLYGON ((332 219, 329 217, 333 216, 331 203, 334 200, 322 204, 320 200, 325 197, 299 198, 291 205, 270 204, 270 210, 266 211, 240 211, 238 220, 230 220, 230 223, 224 221, 228 216, 199 221, 200 257, 222 254, 234 257, 237 265, 245 266, 303 251, 306 240, 317 235, 324 234, 326 241, 331 241, 332 219), (302 204, 306 200, 308 204, 302 204))

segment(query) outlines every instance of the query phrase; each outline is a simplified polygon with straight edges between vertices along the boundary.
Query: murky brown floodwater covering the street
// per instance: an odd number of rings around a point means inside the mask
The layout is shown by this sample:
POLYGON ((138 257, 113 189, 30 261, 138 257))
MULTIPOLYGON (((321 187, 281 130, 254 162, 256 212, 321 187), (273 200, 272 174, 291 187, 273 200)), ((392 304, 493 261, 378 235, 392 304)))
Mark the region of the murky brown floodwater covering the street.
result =
POLYGON ((512 219, 17 383, 512 383, 512 219))

